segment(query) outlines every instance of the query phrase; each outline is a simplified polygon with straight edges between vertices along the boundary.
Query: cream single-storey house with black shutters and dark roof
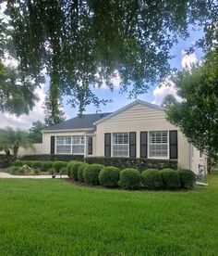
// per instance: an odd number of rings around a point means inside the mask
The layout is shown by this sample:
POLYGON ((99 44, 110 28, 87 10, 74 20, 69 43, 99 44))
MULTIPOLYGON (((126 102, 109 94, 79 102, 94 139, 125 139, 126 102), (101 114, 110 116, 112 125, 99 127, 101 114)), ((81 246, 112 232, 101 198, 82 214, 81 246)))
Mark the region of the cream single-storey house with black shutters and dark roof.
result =
POLYGON ((42 131, 43 154, 177 160, 198 173, 206 156, 167 122, 163 108, 136 100, 113 113, 87 114, 42 131))

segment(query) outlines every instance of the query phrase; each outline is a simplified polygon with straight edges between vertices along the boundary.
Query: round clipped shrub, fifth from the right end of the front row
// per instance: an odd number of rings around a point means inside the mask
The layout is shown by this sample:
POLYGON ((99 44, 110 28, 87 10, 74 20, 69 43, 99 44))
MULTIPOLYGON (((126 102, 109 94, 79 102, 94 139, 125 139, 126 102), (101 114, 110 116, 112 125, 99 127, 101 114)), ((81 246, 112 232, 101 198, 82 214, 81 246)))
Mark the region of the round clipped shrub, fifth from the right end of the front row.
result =
POLYGON ((99 173, 99 181, 103 186, 118 186, 120 170, 114 166, 103 167, 99 173))

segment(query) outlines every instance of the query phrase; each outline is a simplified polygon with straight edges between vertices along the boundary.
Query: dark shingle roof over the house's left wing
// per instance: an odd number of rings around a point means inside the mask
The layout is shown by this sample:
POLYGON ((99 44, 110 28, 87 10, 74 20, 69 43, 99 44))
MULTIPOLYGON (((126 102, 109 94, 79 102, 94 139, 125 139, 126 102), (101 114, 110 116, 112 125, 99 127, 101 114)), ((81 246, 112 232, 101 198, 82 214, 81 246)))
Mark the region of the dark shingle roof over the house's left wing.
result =
POLYGON ((54 126, 47 127, 44 131, 94 128, 94 122, 97 122, 110 114, 111 113, 87 114, 82 117, 75 117, 65 122, 55 124, 54 126))

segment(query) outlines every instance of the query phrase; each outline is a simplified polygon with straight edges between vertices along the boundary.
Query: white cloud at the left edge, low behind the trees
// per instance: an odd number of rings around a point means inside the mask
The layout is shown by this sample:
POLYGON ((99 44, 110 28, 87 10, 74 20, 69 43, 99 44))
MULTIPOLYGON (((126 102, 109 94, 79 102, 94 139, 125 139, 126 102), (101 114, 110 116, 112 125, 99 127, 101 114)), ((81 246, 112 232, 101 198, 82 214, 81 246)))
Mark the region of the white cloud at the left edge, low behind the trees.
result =
POLYGON ((14 128, 29 129, 31 127, 32 122, 38 120, 43 121, 44 112, 42 109, 42 104, 45 98, 44 85, 42 85, 42 88, 37 87, 35 89, 35 94, 39 97, 40 100, 36 102, 35 106, 30 111, 29 115, 21 115, 19 117, 16 117, 15 115, 10 115, 8 113, 1 113, 0 127, 11 126, 14 128))

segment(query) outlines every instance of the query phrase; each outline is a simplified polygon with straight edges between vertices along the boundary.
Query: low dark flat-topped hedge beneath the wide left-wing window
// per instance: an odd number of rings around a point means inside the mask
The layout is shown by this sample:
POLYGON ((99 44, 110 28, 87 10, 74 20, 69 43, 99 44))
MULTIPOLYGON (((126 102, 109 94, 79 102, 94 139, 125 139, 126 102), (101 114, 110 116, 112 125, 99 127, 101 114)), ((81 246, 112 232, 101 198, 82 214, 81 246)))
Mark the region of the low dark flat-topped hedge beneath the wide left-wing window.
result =
POLYGON ((53 154, 42 154, 42 155, 25 155, 20 157, 20 160, 63 160, 63 161, 69 161, 69 160, 80 160, 82 161, 84 159, 84 156, 82 155, 53 155, 53 154))

